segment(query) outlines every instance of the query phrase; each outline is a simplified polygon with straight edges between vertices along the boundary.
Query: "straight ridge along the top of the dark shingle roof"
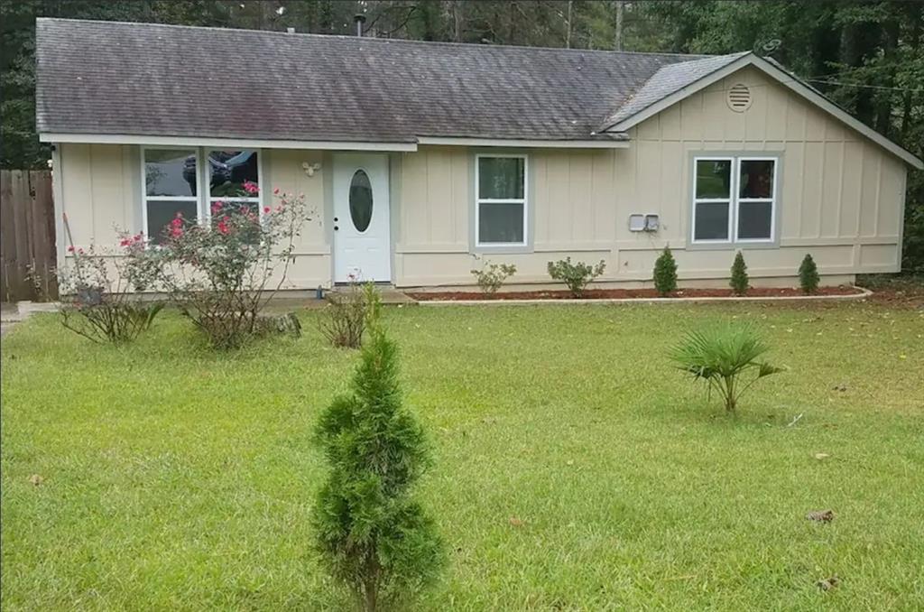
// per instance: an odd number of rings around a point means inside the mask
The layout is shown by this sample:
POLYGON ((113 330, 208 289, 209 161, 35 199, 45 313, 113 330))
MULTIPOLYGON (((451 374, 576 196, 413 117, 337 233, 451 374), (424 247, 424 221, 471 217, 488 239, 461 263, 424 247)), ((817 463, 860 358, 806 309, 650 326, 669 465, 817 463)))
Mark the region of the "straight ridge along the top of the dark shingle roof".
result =
MULTIPOLYGON (((479 47, 479 48, 493 48, 493 49, 529 49, 529 50, 542 50, 542 51, 561 51, 568 53, 591 53, 591 54, 607 54, 607 55, 643 55, 643 56, 667 56, 667 57, 686 57, 686 61, 696 61, 701 59, 709 59, 711 57, 722 57, 723 55, 696 55, 696 54, 686 54, 686 53, 674 53, 666 51, 615 51, 613 49, 576 49, 568 47, 550 47, 550 46, 530 46, 528 44, 504 44, 504 43, 456 43, 452 41, 420 41, 417 39, 411 38, 382 38, 377 36, 350 36, 347 34, 321 34, 316 32, 303 32, 303 31, 278 31, 278 30, 254 30, 252 28, 227 28, 224 26, 192 26, 179 23, 159 23, 155 21, 121 21, 117 19, 75 19, 75 18, 63 18, 63 17, 39 17, 36 18, 36 21, 52 21, 52 22, 68 22, 68 23, 104 23, 104 24, 116 24, 116 25, 126 25, 126 26, 151 26, 157 28, 175 28, 182 30, 207 30, 207 31, 234 31, 234 32, 255 32, 260 34, 275 34, 279 36, 300 36, 300 37, 310 37, 310 38, 328 38, 328 39, 342 39, 346 41, 361 41, 361 42, 374 42, 374 43, 400 43, 400 44, 420 44, 420 45, 440 45, 440 46, 463 46, 463 47, 479 47)), ((748 52, 744 52, 748 53, 748 52)), ((681 62, 678 62, 681 63, 681 62)))

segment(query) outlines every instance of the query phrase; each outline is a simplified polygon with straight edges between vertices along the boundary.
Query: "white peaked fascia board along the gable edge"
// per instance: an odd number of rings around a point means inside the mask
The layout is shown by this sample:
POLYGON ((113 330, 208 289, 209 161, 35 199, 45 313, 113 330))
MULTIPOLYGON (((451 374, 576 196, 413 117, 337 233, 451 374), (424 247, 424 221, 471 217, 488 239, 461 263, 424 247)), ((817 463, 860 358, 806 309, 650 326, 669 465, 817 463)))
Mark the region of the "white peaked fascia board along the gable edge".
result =
POLYGON ((796 76, 789 74, 788 72, 781 70, 778 67, 773 66, 770 62, 763 59, 762 57, 754 54, 744 55, 740 59, 736 59, 731 64, 719 68, 715 72, 703 77, 702 79, 690 83, 684 88, 677 90, 671 95, 662 98, 658 102, 647 106, 633 116, 623 119, 619 123, 614 124, 606 131, 614 132, 625 132, 627 129, 632 128, 633 126, 638 125, 645 119, 650 116, 657 115, 666 108, 673 106, 674 104, 680 102, 684 98, 693 93, 699 92, 700 90, 709 87, 712 83, 719 80, 723 80, 725 77, 731 75, 737 70, 746 67, 753 66, 762 70, 767 75, 771 76, 773 79, 777 80, 781 85, 788 88, 789 90, 798 93, 800 96, 808 100, 808 102, 815 104, 816 106, 821 107, 821 110, 827 112, 829 115, 834 116, 837 119, 840 119, 848 127, 857 130, 860 134, 869 138, 870 141, 875 142, 880 145, 883 149, 889 153, 894 154, 896 157, 904 161, 906 164, 911 165, 912 167, 918 168, 918 170, 924 169, 924 162, 918 159, 913 153, 906 151, 904 148, 898 144, 890 141, 886 137, 882 136, 875 129, 870 128, 865 123, 857 119, 856 117, 847 113, 844 109, 839 107, 837 104, 833 104, 827 98, 825 98, 821 93, 815 92, 813 89, 805 85, 801 80, 798 80, 796 76))

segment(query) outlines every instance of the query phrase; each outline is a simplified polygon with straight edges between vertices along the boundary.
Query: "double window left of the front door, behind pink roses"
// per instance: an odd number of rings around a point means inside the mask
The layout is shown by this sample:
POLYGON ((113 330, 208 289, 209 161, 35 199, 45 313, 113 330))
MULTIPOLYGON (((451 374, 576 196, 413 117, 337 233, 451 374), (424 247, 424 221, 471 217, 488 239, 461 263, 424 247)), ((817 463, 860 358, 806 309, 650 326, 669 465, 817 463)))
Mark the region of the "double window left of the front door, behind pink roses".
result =
POLYGON ((164 241, 166 226, 177 216, 209 223, 229 207, 261 214, 259 151, 145 147, 141 155, 143 231, 153 244, 164 241))

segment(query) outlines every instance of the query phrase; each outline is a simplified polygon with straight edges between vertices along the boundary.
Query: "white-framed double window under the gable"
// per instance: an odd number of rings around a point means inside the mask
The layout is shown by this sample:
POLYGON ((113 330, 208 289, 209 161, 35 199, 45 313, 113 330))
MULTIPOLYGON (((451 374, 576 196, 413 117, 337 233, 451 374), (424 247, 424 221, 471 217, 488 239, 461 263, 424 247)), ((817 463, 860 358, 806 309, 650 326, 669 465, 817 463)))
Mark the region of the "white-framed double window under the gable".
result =
POLYGON ((772 242, 776 158, 694 159, 693 242, 772 242))

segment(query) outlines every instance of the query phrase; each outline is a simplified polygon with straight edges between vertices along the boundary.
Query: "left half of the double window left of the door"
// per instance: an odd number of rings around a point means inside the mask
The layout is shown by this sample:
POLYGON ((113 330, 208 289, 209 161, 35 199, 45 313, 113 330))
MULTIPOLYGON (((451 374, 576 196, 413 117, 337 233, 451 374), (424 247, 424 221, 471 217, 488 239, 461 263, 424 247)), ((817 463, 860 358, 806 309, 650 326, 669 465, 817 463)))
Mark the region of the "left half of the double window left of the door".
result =
POLYGON ((199 152, 196 149, 144 149, 144 232, 152 243, 177 216, 200 217, 199 152))

